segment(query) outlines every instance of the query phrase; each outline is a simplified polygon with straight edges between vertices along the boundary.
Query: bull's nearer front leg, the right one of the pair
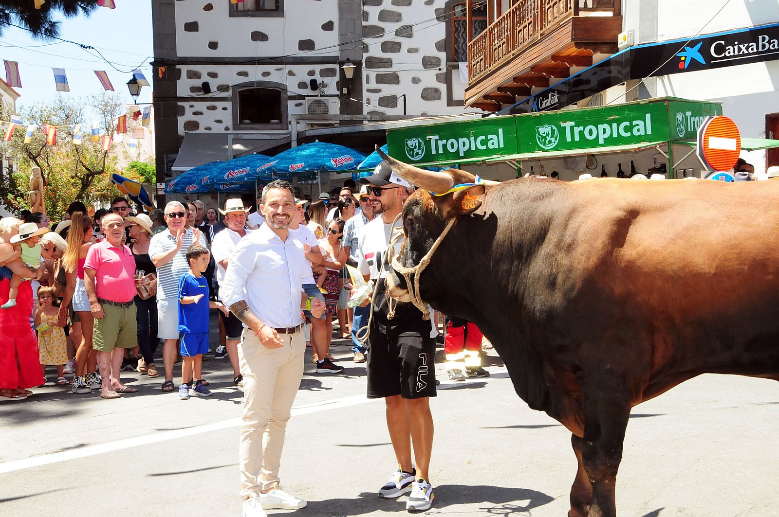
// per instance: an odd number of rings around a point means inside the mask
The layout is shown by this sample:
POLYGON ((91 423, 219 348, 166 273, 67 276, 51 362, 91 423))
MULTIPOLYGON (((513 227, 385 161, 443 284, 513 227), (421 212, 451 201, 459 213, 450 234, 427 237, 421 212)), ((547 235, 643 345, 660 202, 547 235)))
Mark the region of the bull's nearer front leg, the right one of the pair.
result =
POLYGON ((592 484, 588 517, 616 515, 615 482, 630 415, 630 397, 622 391, 621 386, 603 379, 597 385, 582 385, 582 462, 592 484))

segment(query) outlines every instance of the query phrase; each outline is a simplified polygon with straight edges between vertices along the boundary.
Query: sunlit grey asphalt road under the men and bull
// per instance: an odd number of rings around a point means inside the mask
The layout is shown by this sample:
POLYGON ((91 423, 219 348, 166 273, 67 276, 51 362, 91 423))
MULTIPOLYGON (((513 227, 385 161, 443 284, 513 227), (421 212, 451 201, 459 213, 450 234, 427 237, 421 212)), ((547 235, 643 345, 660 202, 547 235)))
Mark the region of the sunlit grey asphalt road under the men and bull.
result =
MULTIPOLYGON (((344 375, 307 364, 287 428, 282 482, 308 501, 294 515, 404 514, 404 498, 376 496, 395 468, 383 403, 365 399, 365 366, 347 346, 333 352, 344 375)), ((425 515, 566 515, 576 470, 568 431, 527 408, 499 357, 486 364, 490 378, 460 383, 436 364, 435 503, 425 515)), ((209 398, 179 401, 159 379, 125 372, 138 394, 47 387, 0 404, 0 516, 241 515, 241 392, 224 368, 206 362, 209 398)), ((779 515, 777 425, 777 384, 756 378, 704 375, 636 407, 619 515, 779 515)))

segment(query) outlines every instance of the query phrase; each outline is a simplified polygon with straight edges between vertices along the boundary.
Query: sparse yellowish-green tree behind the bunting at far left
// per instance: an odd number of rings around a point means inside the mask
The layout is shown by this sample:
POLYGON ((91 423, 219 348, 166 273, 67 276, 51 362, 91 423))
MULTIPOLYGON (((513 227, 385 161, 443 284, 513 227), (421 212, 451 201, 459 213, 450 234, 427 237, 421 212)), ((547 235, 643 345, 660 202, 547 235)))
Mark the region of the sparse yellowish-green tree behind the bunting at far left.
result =
MULTIPOLYGON (((29 209, 29 183, 32 167, 41 167, 46 185, 44 200, 50 219, 57 220, 75 199, 87 205, 108 202, 120 192, 111 184, 111 174, 117 172, 133 181, 143 181, 138 172, 117 169, 116 147, 106 152, 101 142, 90 141, 91 123, 86 122, 85 107, 97 113, 101 129, 113 135, 116 118, 125 112, 125 106, 116 93, 102 93, 90 100, 57 97, 51 105, 36 104, 23 110, 19 116, 25 124, 35 124, 30 143, 24 143, 24 125, 16 128, 10 142, 5 144, 6 160, 13 164, 12 171, 0 171, 0 199, 12 212, 29 209), (48 146, 41 131, 43 124, 61 126, 57 130, 57 145, 48 146), (72 125, 81 124, 82 144, 76 146, 72 125), (62 127, 64 126, 64 127, 62 127)), ((9 120, 8 114, 2 115, 9 120)))

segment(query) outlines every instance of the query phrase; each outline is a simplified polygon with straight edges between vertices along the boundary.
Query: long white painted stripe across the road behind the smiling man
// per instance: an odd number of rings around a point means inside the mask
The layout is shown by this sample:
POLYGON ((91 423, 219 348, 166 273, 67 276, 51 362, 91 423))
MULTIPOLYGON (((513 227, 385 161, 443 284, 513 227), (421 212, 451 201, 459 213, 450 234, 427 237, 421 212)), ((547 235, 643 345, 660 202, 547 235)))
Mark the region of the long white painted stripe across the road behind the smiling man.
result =
MULTIPOLYGON (((344 397, 343 399, 328 400, 321 403, 305 404, 303 406, 292 408, 292 416, 297 417, 299 415, 306 415, 308 413, 319 413, 319 411, 336 410, 341 407, 356 406, 361 403, 371 402, 372 400, 375 399, 368 399, 365 397, 365 395, 355 395, 344 397)), ((0 463, 0 474, 16 472, 17 470, 30 469, 35 466, 49 465, 56 462, 66 462, 71 459, 86 458, 87 456, 105 454, 106 452, 119 451, 123 448, 139 447, 160 441, 193 436, 195 434, 220 431, 221 429, 238 427, 239 425, 241 425, 240 417, 229 418, 227 420, 213 422, 213 424, 204 424, 196 427, 188 427, 186 429, 174 429, 173 431, 163 431, 161 433, 146 434, 145 436, 136 436, 135 438, 124 438, 122 440, 109 441, 108 443, 104 444, 87 445, 86 447, 75 448, 69 451, 54 452, 52 454, 33 456, 32 458, 26 459, 16 459, 14 461, 0 463)))

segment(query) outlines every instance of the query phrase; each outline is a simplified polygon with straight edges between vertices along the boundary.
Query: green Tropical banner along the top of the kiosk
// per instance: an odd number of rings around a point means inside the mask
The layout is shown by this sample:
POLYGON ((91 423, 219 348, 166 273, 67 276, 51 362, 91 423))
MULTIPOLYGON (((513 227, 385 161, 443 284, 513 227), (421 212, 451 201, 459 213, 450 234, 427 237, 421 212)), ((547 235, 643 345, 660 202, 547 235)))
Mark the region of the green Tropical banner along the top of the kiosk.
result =
POLYGON ((721 104, 664 97, 580 110, 488 117, 391 130, 390 155, 410 164, 466 164, 526 153, 693 140, 721 104))

